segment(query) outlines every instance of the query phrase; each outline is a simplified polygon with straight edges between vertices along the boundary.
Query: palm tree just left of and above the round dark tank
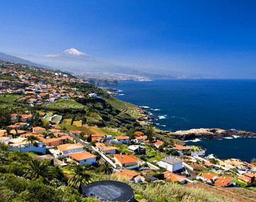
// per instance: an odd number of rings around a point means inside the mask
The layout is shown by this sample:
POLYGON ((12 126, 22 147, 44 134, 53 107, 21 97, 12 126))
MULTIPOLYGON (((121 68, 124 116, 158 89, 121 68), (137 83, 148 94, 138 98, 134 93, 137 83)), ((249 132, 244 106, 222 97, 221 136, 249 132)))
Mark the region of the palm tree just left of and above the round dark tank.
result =
POLYGON ((86 166, 75 166, 72 171, 74 175, 68 180, 70 187, 80 189, 82 185, 92 182, 92 175, 86 170, 86 166))

